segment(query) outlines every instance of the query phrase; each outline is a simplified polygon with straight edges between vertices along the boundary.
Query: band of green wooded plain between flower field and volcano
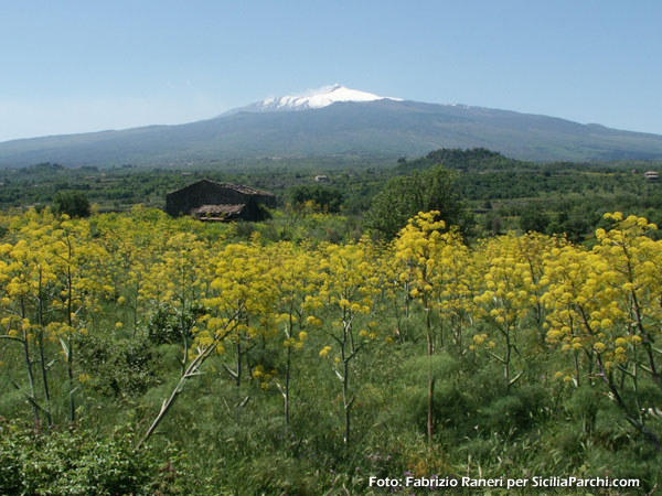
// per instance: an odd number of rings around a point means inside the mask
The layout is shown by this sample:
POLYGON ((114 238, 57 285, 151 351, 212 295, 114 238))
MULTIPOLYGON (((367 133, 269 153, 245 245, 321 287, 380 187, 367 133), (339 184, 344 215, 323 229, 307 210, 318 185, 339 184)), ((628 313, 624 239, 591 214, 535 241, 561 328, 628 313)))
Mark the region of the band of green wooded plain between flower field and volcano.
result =
MULTIPOLYGON (((280 163, 280 162, 279 162, 280 163)), ((17 171, 0 171, 0 207, 52 203, 60 191, 85 193, 100 211, 125 211, 131 205, 163 207, 166 193, 209 177, 247 184, 275 193, 280 204, 289 201, 289 191, 305 190, 327 194, 322 188, 342 192, 343 212, 364 216, 373 196, 384 184, 401 174, 426 171, 436 164, 452 169, 457 175, 455 187, 467 207, 478 214, 480 234, 499 234, 522 228, 522 205, 544 205, 549 219, 546 233, 568 233, 583 241, 600 226, 604 212, 620 211, 644 215, 652 222, 662 222, 662 188, 647 182, 641 172, 659 170, 654 161, 611 162, 553 162, 534 163, 510 159, 485 149, 441 149, 420 159, 399 159, 396 163, 376 158, 288 159, 276 165, 270 160, 256 163, 210 163, 196 169, 152 169, 121 166, 100 171, 95 166, 67 168, 58 164, 39 164, 17 171), (636 172, 633 169, 637 169, 636 172), (249 172, 246 172, 249 171, 249 172), (314 173, 333 171, 333 186, 310 184, 314 173), (488 208, 485 205, 493 206, 488 208), (575 216, 573 211, 577 211, 575 216), (595 216, 592 214, 597 213, 595 216), (487 215, 485 215, 487 214, 487 215), (568 223, 563 216, 568 215, 568 223)), ((311 198, 312 200, 312 198, 311 198)), ((322 197, 318 198, 324 203, 322 197)), ((329 204, 333 202, 329 200, 329 204)), ((333 207, 334 208, 334 207, 333 207)), ((361 219, 359 219, 361 224, 361 219)), ((277 224, 277 222, 276 222, 277 224)), ((271 222, 268 222, 271 226, 271 222)), ((541 228, 540 223, 534 224, 541 228)), ((525 227, 531 227, 525 223, 525 227)), ((287 230, 287 229, 284 229, 287 230)), ((289 233, 276 233, 269 239, 290 239, 289 233)), ((360 234, 359 234, 360 236, 360 234)), ((342 233, 341 233, 342 237, 342 233)))

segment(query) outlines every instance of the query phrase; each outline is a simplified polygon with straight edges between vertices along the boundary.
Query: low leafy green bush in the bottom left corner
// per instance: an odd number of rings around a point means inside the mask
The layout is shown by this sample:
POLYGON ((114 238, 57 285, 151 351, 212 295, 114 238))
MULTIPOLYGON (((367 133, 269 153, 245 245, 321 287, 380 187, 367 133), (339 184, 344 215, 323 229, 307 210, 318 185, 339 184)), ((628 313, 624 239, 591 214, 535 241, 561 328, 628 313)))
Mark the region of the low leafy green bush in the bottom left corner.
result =
POLYGON ((2 421, 0 434, 0 494, 3 495, 180 494, 179 484, 168 473, 170 467, 164 470, 151 451, 134 451, 135 440, 127 433, 39 433, 2 421), (162 484, 166 476, 170 481, 162 484))

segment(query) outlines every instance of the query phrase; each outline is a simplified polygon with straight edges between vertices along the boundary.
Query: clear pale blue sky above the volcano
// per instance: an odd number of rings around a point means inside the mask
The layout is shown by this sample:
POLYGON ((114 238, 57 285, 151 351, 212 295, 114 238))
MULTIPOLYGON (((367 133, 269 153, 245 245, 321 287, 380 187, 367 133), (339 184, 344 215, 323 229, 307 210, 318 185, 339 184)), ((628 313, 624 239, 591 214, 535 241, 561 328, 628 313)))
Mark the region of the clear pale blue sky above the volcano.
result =
POLYGON ((2 1, 0 141, 327 84, 662 133, 662 2, 2 1))

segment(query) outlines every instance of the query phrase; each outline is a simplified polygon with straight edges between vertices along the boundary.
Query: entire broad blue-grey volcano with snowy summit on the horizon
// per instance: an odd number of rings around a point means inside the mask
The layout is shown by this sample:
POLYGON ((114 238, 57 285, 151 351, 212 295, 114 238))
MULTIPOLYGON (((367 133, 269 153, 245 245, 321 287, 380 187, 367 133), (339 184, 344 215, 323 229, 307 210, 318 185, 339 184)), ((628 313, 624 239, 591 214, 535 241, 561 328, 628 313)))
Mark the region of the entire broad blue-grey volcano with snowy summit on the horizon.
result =
POLYGON ((159 165, 267 157, 421 155, 482 147, 533 161, 662 159, 662 136, 325 86, 178 126, 0 143, 0 166, 159 165))

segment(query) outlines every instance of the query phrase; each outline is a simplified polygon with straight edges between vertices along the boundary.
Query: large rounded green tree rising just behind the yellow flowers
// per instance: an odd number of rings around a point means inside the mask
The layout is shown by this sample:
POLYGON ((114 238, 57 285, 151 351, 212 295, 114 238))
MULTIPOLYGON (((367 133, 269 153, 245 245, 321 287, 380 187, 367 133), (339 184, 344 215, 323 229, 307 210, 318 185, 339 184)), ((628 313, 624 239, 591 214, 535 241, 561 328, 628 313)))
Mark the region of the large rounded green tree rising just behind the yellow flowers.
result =
POLYGON ((394 177, 375 195, 369 225, 385 238, 394 238, 419 212, 439 212, 446 226, 458 226, 462 235, 469 231, 472 219, 460 201, 452 175, 435 165, 424 172, 394 177))

